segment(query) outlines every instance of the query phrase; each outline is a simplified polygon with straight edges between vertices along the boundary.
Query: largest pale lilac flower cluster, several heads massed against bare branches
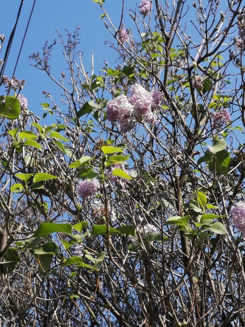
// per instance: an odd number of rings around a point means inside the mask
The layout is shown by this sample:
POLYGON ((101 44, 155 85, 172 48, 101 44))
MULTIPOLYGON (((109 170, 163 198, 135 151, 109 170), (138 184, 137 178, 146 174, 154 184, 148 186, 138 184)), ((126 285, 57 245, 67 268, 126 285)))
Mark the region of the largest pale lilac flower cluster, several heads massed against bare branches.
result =
POLYGON ((113 100, 109 100, 106 106, 106 116, 109 121, 119 122, 119 129, 126 133, 133 129, 137 119, 144 119, 147 123, 154 125, 157 116, 155 110, 163 100, 164 95, 159 90, 147 91, 140 84, 131 86, 131 95, 119 95, 113 100))

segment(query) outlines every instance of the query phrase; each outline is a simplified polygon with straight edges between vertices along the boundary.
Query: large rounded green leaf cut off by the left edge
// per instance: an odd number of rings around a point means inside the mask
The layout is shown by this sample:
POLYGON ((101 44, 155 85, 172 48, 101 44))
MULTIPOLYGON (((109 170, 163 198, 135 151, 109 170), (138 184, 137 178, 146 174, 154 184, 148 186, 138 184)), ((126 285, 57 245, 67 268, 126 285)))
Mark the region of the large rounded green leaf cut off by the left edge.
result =
POLYGON ((0 116, 7 119, 17 119, 20 115, 20 100, 15 96, 5 96, 0 97, 0 116), (11 108, 11 109, 9 109, 11 108))

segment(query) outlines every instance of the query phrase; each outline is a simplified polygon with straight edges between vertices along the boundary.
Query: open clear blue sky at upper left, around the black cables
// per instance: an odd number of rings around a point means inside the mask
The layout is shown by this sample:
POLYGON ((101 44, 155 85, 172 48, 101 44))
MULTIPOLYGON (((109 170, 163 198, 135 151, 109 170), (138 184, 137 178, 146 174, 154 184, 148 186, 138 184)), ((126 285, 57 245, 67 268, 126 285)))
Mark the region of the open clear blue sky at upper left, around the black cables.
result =
MULTIPOLYGON (((139 4, 140 1, 138 1, 139 4)), ((0 53, 0 59, 3 59, 9 36, 16 21, 21 0, 2 0, 1 1, 1 23, 0 34, 5 35, 5 42, 0 53)), ((124 19, 126 28, 133 25, 128 12, 135 9, 137 1, 125 0, 124 19)), ((15 62, 18 56, 20 45, 24 36, 25 27, 31 12, 33 0, 25 0, 18 26, 15 32, 10 55, 4 75, 11 77, 15 62)), ((115 26, 119 26, 121 18, 122 1, 106 0, 104 7, 108 14, 113 18, 115 26)), ((52 43, 56 38, 58 40, 56 29, 65 36, 65 28, 73 32, 77 26, 80 26, 81 43, 78 49, 83 51, 83 62, 86 71, 91 71, 91 52, 94 52, 94 69, 95 72, 102 68, 103 61, 109 62, 113 67, 117 58, 117 53, 113 51, 105 41, 113 42, 113 37, 107 31, 103 21, 100 18, 102 14, 100 6, 91 0, 37 0, 32 18, 29 24, 24 46, 18 62, 15 76, 18 79, 25 79, 26 83, 21 92, 28 99, 28 109, 35 114, 42 116, 42 102, 48 102, 42 95, 42 91, 50 92, 60 104, 61 89, 52 82, 43 71, 30 66, 29 55, 33 52, 41 52, 45 41, 52 43)), ((62 55, 62 45, 57 42, 54 47, 51 59, 51 74, 59 79, 60 72, 66 72, 66 65, 62 55)), ((4 94, 3 86, 0 90, 4 94)))

